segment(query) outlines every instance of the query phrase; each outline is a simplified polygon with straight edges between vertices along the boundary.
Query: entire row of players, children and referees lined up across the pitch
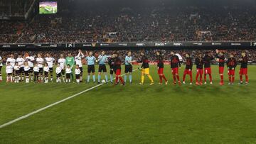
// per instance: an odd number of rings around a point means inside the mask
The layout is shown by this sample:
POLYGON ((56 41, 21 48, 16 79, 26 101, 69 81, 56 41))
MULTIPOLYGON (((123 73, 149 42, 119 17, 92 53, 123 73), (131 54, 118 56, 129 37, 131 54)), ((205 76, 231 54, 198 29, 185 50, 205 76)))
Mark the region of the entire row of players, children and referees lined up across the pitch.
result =
MULTIPOLYGON (((219 74, 220 74, 220 85, 224 84, 223 74, 224 74, 224 65, 227 62, 228 67, 228 76, 229 76, 229 84, 233 84, 235 80, 235 67, 238 65, 237 60, 235 60, 234 55, 229 54, 228 60, 226 60, 224 53, 222 51, 216 50, 217 55, 213 56, 209 52, 206 55, 199 53, 196 57, 196 84, 203 84, 203 68, 204 68, 204 84, 206 84, 206 76, 209 75, 210 84, 213 84, 212 81, 212 72, 210 68, 210 63, 213 60, 216 60, 219 63, 219 74), (199 80, 198 80, 199 77, 199 80)), ((161 53, 156 52, 158 57, 158 74, 159 74, 159 84, 162 84, 163 79, 165 80, 165 84, 168 83, 166 77, 164 76, 164 59, 161 56, 161 53)), ((87 57, 82 53, 81 50, 78 51, 78 55, 73 57, 71 53, 68 54, 68 57, 64 57, 63 54, 60 54, 60 58, 58 59, 58 66, 56 67, 56 82, 61 82, 61 78, 63 82, 73 82, 73 67, 75 67, 75 79, 76 82, 82 82, 82 59, 85 58, 87 61, 87 82, 90 82, 90 75, 92 74, 93 82, 95 82, 95 62, 99 63, 98 70, 98 83, 100 83, 101 73, 105 74, 105 82, 108 82, 107 76, 107 67, 106 64, 110 65, 110 82, 113 82, 113 74, 116 74, 115 84, 118 84, 119 80, 121 84, 125 84, 127 81, 127 76, 129 74, 129 82, 132 83, 132 63, 133 62, 142 62, 142 82, 140 84, 144 84, 144 75, 147 75, 151 80, 151 85, 154 84, 154 80, 149 74, 149 60, 144 55, 144 52, 141 52, 142 60, 136 61, 132 60, 132 52, 128 52, 125 57, 125 71, 124 71, 124 79, 121 77, 121 65, 122 61, 118 57, 118 53, 114 53, 113 55, 105 55, 105 51, 102 51, 99 57, 94 57, 92 52, 87 53, 87 57)), ((247 56, 245 52, 242 52, 242 57, 238 60, 241 62, 240 68, 240 84, 242 84, 242 75, 245 75, 245 84, 248 84, 248 76, 247 76, 247 56)), ((45 82, 48 83, 49 76, 50 82, 53 82, 53 66, 55 65, 55 59, 50 56, 50 54, 46 55, 46 58, 43 59, 42 55, 38 53, 36 59, 32 56, 26 56, 25 58, 22 55, 18 55, 16 59, 14 59, 14 55, 11 55, 6 60, 6 74, 7 74, 7 82, 21 82, 25 79, 25 82, 28 83, 33 82, 45 82)), ((2 62, 0 57, 0 72, 1 72, 2 62)), ((171 52, 171 70, 173 74, 174 84, 178 82, 181 84, 181 80, 178 75, 178 67, 181 67, 180 57, 171 52)), ((186 54, 186 68, 183 72, 183 84, 185 83, 186 75, 190 76, 190 84, 193 82, 192 78, 192 67, 193 60, 189 53, 186 54)), ((1 73, 0 73, 0 81, 1 81, 1 73)))

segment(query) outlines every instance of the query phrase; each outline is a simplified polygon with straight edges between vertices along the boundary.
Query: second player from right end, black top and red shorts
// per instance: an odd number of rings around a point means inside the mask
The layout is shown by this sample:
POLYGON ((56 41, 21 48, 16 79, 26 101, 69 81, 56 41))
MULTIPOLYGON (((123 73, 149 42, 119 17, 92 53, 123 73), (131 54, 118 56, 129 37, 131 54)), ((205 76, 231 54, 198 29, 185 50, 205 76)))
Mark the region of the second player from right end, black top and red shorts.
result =
POLYGON ((228 67, 228 84, 234 84, 235 81, 235 67, 237 66, 237 62, 234 58, 234 55, 231 53, 228 58, 227 67, 228 67))

